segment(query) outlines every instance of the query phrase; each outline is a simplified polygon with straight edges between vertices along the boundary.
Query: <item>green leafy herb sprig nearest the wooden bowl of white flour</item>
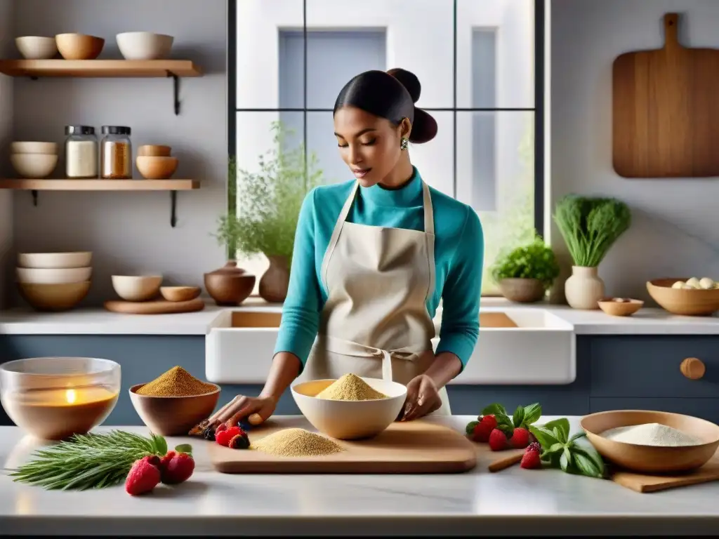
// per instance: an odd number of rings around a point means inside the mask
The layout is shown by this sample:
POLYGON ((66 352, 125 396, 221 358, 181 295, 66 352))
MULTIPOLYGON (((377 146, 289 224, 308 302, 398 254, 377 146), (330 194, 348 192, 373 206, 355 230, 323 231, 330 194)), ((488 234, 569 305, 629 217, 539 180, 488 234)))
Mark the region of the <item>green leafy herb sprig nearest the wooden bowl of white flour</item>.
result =
POLYGON ((586 441, 584 432, 569 436, 567 418, 549 421, 544 425, 531 425, 529 431, 541 445, 540 458, 548 467, 562 469, 568 474, 605 478, 607 469, 602 457, 586 441))

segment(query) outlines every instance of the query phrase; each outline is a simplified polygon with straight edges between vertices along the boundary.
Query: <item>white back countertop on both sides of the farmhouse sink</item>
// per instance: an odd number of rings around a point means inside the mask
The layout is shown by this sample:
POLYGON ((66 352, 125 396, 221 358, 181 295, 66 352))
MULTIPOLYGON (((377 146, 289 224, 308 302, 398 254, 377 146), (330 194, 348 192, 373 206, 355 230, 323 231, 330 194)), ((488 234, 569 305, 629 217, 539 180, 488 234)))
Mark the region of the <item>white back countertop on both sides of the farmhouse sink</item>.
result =
MULTIPOLYGON (((510 303, 483 298, 482 310, 503 308, 546 309, 574 326, 577 335, 592 334, 706 334, 719 335, 719 316, 678 316, 659 308, 643 308, 632 316, 617 317, 601 310, 575 310, 567 305, 510 303)), ((206 335, 222 310, 212 300, 197 313, 129 315, 103 308, 78 308, 65 313, 37 313, 29 308, 0 311, 0 334, 206 335)), ((278 304, 250 298, 234 310, 281 312, 278 304)), ((441 312, 441 311, 440 311, 441 312)))

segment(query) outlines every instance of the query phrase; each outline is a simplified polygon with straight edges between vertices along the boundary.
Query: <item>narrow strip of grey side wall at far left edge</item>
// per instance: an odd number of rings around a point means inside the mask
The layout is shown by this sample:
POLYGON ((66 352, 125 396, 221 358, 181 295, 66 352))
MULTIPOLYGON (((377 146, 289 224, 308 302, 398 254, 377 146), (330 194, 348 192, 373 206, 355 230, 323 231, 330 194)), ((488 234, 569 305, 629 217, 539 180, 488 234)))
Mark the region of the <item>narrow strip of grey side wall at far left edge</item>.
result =
MULTIPOLYGON (((0 57, 9 57, 14 48, 12 34, 12 0, 0 0, 0 57)), ((0 75, 0 147, 12 140, 12 78, 0 75)), ((0 175, 9 172, 9 165, 0 161, 0 175)), ((12 193, 0 190, 0 308, 7 302, 12 280, 12 193)))

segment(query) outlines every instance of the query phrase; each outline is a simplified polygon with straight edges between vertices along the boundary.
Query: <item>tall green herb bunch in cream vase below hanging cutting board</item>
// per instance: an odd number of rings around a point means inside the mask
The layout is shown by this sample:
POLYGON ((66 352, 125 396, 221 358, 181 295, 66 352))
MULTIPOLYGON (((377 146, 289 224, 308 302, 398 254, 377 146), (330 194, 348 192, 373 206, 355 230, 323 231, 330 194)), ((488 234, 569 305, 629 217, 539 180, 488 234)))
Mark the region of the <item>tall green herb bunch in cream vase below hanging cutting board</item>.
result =
POLYGON ((599 308, 604 281, 597 268, 631 225, 631 211, 616 198, 567 195, 557 203, 554 222, 574 261, 564 284, 567 303, 575 309, 599 308))

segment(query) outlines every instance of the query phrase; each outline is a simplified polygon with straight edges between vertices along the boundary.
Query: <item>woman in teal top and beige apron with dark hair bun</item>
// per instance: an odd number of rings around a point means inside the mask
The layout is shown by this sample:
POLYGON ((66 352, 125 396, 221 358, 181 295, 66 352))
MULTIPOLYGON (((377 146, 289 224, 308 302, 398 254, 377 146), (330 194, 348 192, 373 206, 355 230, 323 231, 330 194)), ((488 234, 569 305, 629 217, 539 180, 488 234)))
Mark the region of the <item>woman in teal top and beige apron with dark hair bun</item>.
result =
POLYGON ((258 397, 235 397, 219 420, 262 423, 298 375, 350 372, 406 384, 401 420, 449 415, 444 386, 479 335, 483 234, 472 208, 429 188, 411 164, 408 143, 437 132, 414 106, 419 94, 416 76, 399 69, 367 71, 342 88, 334 134, 356 180, 308 193, 267 382, 258 397))

